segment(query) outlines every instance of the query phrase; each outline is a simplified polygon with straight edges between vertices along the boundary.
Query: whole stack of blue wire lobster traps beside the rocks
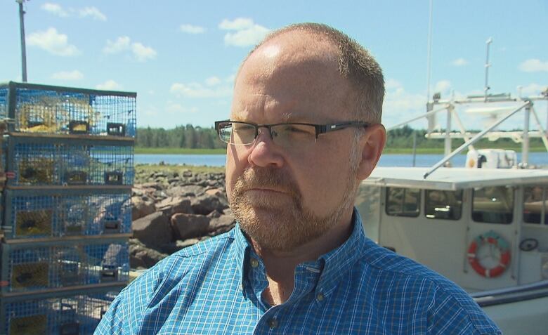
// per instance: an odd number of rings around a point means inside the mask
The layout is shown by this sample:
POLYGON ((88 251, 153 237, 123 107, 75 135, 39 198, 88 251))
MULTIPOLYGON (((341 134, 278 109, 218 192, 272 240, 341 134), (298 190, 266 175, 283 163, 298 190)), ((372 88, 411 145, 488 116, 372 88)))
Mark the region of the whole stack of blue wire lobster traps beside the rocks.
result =
POLYGON ((91 334, 129 279, 136 93, 0 84, 0 334, 91 334))

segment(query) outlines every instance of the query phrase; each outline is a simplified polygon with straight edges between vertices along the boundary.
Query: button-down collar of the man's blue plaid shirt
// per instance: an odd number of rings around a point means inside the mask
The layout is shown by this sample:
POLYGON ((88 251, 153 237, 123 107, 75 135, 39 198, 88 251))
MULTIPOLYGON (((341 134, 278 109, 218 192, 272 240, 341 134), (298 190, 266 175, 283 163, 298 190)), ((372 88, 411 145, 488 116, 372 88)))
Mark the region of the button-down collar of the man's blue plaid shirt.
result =
MULTIPOLYGON (((362 220, 358 209, 354 207, 352 215, 353 230, 348 239, 336 249, 323 254, 315 262, 307 262, 302 265, 306 267, 312 267, 318 270, 320 273, 320 280, 318 281, 316 291, 321 291, 322 294, 327 296, 330 294, 337 284, 346 276, 346 272, 351 269, 354 263, 356 263, 362 255, 365 249, 366 237, 363 230, 362 220)), ((234 229, 234 241, 235 241, 235 261, 238 267, 238 275, 242 287, 245 284, 247 263, 249 263, 249 252, 251 245, 244 236, 244 233, 240 229, 240 224, 237 223, 234 229)))

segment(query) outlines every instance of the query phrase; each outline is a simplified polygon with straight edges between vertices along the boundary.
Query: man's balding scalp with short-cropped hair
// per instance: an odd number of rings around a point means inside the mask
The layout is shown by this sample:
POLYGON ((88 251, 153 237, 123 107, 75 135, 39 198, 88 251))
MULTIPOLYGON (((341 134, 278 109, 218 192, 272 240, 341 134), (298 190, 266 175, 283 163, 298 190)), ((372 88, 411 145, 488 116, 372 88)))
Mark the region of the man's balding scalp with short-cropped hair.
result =
MULTIPOLYGON (((242 68, 254 55, 277 58, 289 66, 332 73, 348 82, 348 102, 355 121, 380 123, 384 100, 384 77, 374 58, 363 46, 337 29, 318 23, 290 25, 270 33, 249 53, 242 68), (295 38, 299 37, 299 38, 295 38), (289 65, 289 64, 288 64, 289 65)), ((239 72, 240 73, 240 72, 239 72)), ((329 77, 323 77, 326 85, 329 77)))

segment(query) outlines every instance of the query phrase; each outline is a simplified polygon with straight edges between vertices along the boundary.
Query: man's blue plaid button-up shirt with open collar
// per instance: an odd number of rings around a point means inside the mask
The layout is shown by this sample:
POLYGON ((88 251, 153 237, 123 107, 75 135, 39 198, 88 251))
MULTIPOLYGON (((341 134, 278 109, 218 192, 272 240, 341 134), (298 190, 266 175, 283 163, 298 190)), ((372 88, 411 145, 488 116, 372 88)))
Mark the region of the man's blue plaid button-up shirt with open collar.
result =
POLYGON ((344 244, 297 266, 285 303, 267 286, 236 225, 134 280, 95 334, 500 334, 457 285, 367 239, 358 211, 344 244))

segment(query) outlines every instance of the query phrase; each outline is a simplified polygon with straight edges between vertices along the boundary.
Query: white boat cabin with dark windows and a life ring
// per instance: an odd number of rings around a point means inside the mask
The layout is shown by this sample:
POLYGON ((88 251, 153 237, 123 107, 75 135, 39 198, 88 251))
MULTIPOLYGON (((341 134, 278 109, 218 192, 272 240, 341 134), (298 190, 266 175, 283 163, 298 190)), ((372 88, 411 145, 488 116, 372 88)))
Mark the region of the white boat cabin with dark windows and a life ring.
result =
POLYGON ((358 190, 365 232, 469 292, 548 280, 548 171, 378 167, 358 190))

